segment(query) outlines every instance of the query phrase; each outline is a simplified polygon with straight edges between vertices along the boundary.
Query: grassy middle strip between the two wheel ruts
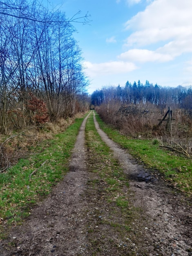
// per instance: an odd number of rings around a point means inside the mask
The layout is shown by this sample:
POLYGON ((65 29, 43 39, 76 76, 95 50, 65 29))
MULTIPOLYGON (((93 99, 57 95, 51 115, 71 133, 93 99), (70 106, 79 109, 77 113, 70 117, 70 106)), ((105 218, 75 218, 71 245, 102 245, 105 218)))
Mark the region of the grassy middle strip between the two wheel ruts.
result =
MULTIPOLYGON (((85 129, 89 181, 86 212, 90 255, 136 255, 145 233, 141 209, 130 202, 129 184, 110 148, 101 140, 89 116, 85 129), (138 224, 137 224, 138 223, 138 224), (142 232, 141 232, 142 230, 142 232)), ((142 255, 145 248, 141 248, 142 255)))

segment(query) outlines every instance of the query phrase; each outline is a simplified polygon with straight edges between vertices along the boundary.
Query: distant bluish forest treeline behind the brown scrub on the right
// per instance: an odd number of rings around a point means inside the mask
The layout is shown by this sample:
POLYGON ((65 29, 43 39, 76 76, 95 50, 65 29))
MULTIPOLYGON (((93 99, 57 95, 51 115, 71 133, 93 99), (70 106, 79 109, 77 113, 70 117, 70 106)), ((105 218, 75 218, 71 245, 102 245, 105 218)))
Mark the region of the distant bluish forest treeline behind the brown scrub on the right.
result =
POLYGON ((94 106, 99 106, 111 100, 116 100, 123 105, 151 103, 162 110, 166 106, 192 110, 192 88, 185 88, 181 85, 176 88, 161 87, 157 84, 153 85, 149 81, 146 81, 145 85, 140 81, 138 83, 134 81, 132 84, 127 81, 124 88, 121 88, 120 85, 117 87, 103 87, 92 94, 92 104, 94 106))

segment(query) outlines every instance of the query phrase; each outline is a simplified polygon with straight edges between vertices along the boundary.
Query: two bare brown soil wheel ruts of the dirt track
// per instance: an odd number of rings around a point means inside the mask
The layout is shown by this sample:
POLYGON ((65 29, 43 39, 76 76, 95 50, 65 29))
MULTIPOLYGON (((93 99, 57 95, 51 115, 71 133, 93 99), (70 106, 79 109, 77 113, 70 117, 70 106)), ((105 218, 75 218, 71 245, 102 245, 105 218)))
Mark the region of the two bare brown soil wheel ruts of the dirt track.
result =
MULTIPOLYGON (((141 235, 139 241, 127 238, 132 251, 126 253, 105 246, 93 253, 89 246, 87 212, 103 209, 102 218, 107 218, 107 206, 87 196, 91 173, 87 171, 84 119, 80 128, 69 172, 63 181, 54 187, 44 201, 31 208, 31 215, 20 225, 13 227, 7 239, 0 241, 1 256, 80 256, 80 255, 148 255, 192 256, 192 201, 168 186, 158 172, 151 173, 120 148, 95 126, 103 141, 114 151, 129 179, 130 202, 135 209, 142 209, 133 222, 132 232, 141 235), (133 243, 134 242, 134 243, 133 243), (145 253, 142 248, 145 248, 145 253)), ((94 193, 94 191, 93 191, 94 193)), ((90 194, 89 194, 90 195, 90 194)), ((97 195, 98 197, 100 195, 97 195)), ((100 218, 99 216, 98 218, 100 218)), ((95 235, 109 233, 97 230, 95 235)), ((133 233, 134 234, 134 233, 133 233)), ((107 234, 115 236, 114 234, 107 234)), ((104 237, 104 236, 103 236, 104 237)), ((120 245, 118 245, 121 247, 120 245)))

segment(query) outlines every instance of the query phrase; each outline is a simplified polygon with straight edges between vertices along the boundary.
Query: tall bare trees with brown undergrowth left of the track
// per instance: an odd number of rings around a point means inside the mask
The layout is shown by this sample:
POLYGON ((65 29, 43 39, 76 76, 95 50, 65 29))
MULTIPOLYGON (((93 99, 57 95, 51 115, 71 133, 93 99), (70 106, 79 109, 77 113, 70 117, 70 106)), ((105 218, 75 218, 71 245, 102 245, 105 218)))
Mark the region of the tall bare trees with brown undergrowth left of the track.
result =
MULTIPOLYGON (((82 22, 87 20, 85 15, 82 22)), ((36 0, 0 1, 1 133, 67 118, 89 106, 72 21, 36 0)))

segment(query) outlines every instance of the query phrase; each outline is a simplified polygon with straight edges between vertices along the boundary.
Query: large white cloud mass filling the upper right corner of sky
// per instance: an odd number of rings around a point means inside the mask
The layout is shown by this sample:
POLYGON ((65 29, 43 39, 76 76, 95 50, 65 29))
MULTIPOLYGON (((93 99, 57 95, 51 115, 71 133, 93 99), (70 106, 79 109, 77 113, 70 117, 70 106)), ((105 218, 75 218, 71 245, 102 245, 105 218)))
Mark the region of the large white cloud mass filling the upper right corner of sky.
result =
POLYGON ((156 50, 129 50, 120 55, 132 61, 133 56, 140 62, 169 61, 183 53, 192 52, 192 0, 154 0, 144 11, 138 12, 125 24, 127 30, 134 31, 126 40, 126 47, 139 48, 161 44, 156 50), (138 60, 139 61, 139 60, 138 60))

